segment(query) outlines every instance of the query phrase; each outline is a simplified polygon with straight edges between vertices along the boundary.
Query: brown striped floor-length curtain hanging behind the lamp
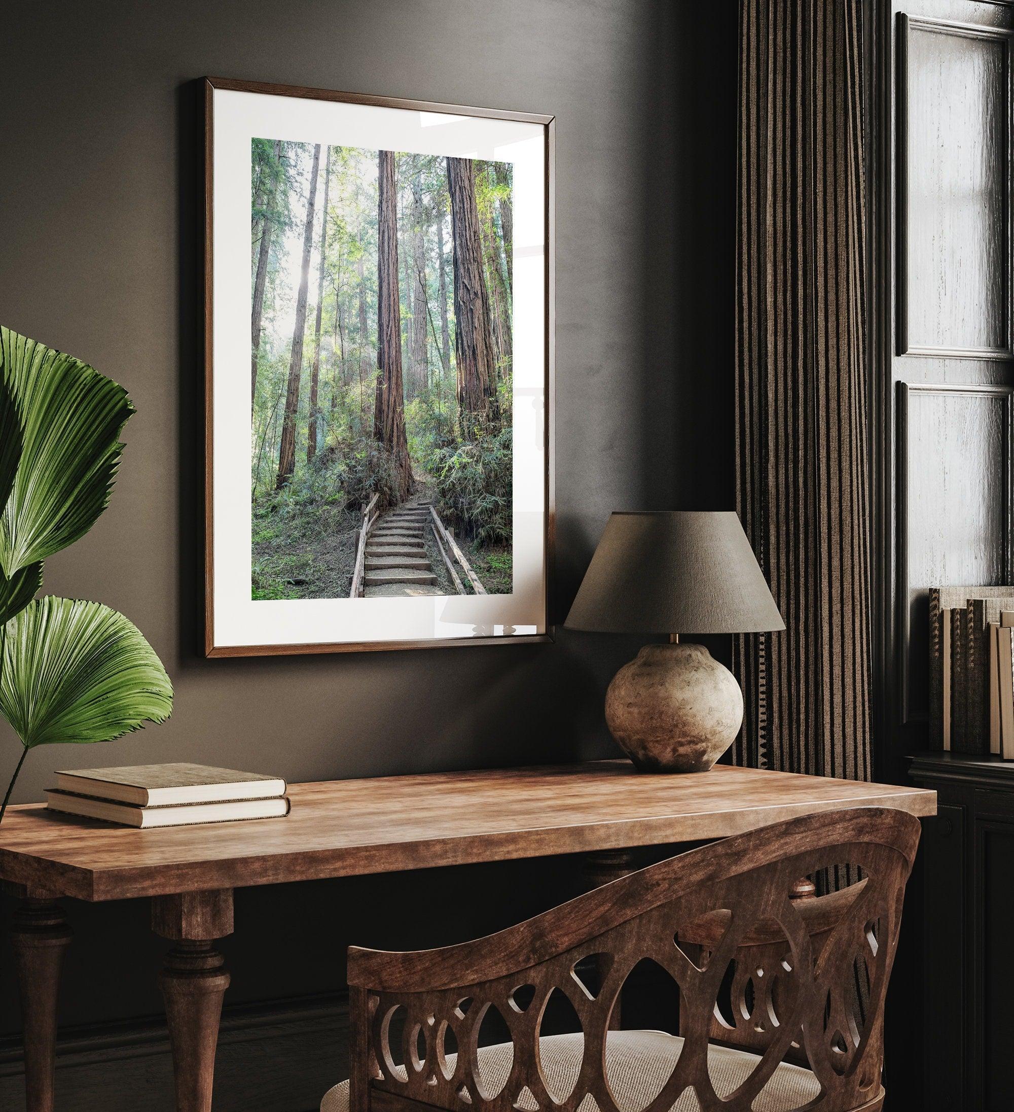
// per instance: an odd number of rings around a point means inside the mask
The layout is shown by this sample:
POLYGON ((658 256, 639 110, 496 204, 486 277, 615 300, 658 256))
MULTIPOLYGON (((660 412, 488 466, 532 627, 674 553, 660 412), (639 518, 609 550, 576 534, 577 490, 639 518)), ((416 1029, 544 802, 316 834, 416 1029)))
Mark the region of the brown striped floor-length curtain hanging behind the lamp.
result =
POLYGON ((740 0, 737 504, 785 618, 739 764, 868 780, 862 0, 740 0))

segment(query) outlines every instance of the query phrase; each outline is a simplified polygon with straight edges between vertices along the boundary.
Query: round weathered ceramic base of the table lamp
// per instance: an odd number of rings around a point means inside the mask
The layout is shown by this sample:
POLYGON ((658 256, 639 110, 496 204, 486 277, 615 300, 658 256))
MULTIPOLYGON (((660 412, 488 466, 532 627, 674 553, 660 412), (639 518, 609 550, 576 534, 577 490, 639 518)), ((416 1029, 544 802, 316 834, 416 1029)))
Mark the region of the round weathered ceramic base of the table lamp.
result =
POLYGON ((743 724, 743 692, 703 645, 645 645, 606 693, 609 732, 642 772, 707 772, 743 724))

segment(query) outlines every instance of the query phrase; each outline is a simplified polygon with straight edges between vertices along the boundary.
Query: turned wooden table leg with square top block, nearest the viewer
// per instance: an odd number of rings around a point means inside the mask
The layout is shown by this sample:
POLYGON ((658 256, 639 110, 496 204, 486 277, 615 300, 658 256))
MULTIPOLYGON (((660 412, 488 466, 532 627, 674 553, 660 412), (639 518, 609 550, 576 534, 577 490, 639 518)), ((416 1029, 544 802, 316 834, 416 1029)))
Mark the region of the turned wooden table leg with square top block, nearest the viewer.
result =
POLYGON ((232 933, 232 890, 185 892, 151 901, 151 927, 176 945, 159 987, 172 1046, 177 1112, 210 1112, 215 1050, 229 974, 215 940, 232 933))

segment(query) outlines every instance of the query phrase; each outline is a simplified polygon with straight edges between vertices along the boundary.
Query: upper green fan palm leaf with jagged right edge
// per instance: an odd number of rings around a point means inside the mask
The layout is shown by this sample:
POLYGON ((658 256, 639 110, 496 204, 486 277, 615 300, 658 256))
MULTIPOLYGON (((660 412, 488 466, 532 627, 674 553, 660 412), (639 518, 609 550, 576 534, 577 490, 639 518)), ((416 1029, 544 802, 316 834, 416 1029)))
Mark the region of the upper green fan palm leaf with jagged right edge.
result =
MULTIPOLYGON (((109 503, 123 448, 119 435, 133 406, 121 386, 88 364, 2 327, 0 379, 21 440, 0 517, 0 570, 12 579, 96 523, 109 503)), ((6 455, 0 450, 0 496, 6 455)))

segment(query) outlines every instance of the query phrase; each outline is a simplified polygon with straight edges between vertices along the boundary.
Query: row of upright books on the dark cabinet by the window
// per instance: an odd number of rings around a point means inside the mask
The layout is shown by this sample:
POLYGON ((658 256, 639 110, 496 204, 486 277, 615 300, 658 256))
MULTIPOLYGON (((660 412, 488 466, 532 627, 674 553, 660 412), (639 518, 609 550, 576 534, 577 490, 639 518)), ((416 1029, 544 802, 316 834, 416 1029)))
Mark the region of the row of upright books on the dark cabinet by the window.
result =
POLYGON ((1014 587, 931 588, 930 732, 937 748, 1014 759, 1014 587))

